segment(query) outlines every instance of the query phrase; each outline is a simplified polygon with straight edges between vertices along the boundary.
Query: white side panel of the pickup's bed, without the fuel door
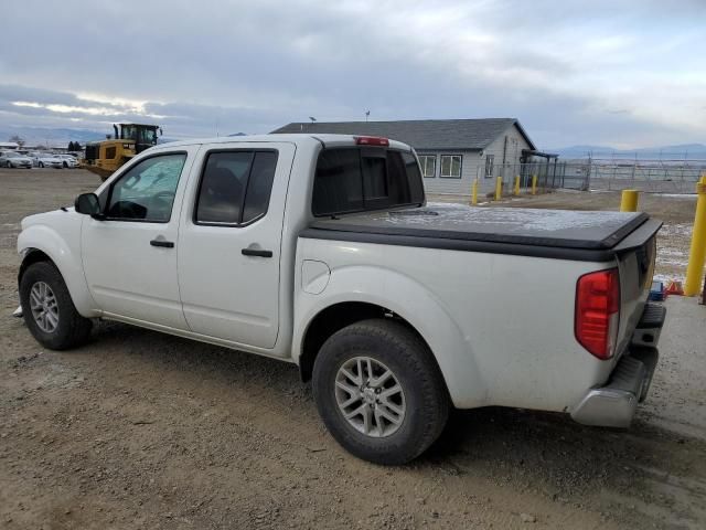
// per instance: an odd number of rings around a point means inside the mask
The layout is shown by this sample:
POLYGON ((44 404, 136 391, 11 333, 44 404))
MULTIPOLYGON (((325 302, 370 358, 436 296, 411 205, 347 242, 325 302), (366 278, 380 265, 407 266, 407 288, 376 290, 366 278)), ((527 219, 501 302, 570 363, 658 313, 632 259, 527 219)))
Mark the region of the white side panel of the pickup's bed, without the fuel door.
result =
POLYGON ((331 269, 322 293, 295 283, 295 359, 307 322, 340 301, 368 301, 411 324, 437 358, 456 406, 568 411, 605 382, 575 339, 576 280, 614 263, 300 239, 331 269))

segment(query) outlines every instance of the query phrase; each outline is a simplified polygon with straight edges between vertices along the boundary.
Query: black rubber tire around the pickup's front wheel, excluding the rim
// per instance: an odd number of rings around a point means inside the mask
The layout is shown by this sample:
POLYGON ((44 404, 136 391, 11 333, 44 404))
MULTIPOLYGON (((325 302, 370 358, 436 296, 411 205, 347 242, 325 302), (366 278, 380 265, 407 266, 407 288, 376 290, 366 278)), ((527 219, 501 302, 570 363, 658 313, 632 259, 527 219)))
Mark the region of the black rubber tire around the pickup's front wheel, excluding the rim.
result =
POLYGON ((50 350, 67 350, 88 340, 93 322, 78 314, 64 278, 53 263, 38 262, 28 267, 20 280, 20 303, 26 327, 43 347, 50 350), (58 308, 58 324, 51 332, 40 328, 31 310, 30 293, 39 282, 49 285, 58 308))

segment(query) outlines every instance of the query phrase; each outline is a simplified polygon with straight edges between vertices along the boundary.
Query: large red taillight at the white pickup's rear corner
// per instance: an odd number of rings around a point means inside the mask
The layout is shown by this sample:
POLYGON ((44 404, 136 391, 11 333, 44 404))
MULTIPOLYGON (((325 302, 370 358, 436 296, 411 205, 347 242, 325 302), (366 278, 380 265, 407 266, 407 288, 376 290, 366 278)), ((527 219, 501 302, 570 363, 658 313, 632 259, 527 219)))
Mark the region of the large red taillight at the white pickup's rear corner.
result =
POLYGON ((620 318, 618 269, 585 274, 576 285, 576 340, 599 359, 616 349, 620 318))

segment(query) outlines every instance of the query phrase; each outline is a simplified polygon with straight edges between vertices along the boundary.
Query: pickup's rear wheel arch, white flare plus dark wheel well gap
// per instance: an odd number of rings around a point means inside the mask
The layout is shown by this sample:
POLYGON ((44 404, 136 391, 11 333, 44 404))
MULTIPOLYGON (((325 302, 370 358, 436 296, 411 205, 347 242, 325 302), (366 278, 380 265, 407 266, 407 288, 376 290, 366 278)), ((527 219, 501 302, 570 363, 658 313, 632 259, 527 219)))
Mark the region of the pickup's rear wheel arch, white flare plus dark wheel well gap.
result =
POLYGON ((319 349, 335 331, 367 318, 395 318, 427 344, 454 406, 486 404, 472 337, 459 328, 432 293, 413 278, 381 267, 344 267, 332 272, 321 295, 300 294, 296 304, 292 359, 304 381, 319 349))

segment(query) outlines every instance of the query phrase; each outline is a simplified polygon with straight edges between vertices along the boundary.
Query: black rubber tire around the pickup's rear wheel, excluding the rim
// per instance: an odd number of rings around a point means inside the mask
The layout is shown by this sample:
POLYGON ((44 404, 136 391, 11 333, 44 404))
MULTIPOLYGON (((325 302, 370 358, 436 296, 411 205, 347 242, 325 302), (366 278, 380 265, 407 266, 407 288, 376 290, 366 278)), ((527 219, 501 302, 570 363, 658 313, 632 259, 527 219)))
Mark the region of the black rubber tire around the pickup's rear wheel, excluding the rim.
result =
POLYGON ((417 335, 392 319, 363 320, 332 335, 317 356, 312 385, 319 414, 332 436, 353 455, 375 464, 413 460, 439 437, 449 416, 448 391, 431 352, 417 335), (404 420, 389 435, 363 434, 339 407, 336 374, 356 357, 383 363, 404 391, 404 420))

